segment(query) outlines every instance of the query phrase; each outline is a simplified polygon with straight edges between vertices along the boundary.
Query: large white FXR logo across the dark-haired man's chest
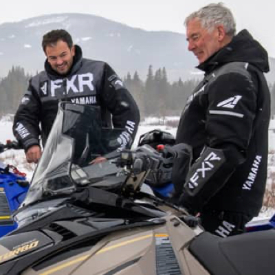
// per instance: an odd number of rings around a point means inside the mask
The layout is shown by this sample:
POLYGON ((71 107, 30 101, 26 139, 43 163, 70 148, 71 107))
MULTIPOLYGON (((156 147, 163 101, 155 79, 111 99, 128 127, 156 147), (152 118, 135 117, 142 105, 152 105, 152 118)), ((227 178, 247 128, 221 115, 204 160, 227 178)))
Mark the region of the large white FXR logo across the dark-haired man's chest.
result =
MULTIPOLYGON (((72 91, 74 94, 83 93, 84 87, 88 87, 89 91, 94 91, 93 85, 94 75, 91 73, 87 74, 75 74, 71 79, 56 79, 51 80, 50 82, 50 94, 52 97, 56 96, 56 89, 61 89, 63 86, 66 87, 66 94, 69 94, 69 91, 72 91), (62 85, 65 81, 65 85, 62 85)), ((41 87, 41 91, 45 96, 47 95, 47 83, 41 87)))

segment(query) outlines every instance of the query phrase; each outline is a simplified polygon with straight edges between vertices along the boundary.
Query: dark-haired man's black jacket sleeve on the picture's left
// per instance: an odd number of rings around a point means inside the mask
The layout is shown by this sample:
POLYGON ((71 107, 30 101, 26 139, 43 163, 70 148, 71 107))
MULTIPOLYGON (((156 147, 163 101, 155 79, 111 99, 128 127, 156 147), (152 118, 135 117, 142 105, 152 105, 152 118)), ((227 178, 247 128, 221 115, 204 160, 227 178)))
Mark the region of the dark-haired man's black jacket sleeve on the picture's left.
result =
POLYGON ((23 145, 25 151, 30 146, 39 145, 40 112, 41 101, 36 91, 34 91, 30 80, 28 90, 25 92, 17 113, 14 115, 12 126, 14 136, 23 145))

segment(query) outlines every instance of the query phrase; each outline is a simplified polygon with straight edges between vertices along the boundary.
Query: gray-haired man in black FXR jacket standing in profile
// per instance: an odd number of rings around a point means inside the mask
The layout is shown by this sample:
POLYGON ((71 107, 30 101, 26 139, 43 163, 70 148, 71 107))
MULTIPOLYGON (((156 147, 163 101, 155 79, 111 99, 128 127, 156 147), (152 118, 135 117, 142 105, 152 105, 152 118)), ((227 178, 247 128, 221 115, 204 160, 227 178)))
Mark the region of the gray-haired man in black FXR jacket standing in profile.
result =
POLYGON ((247 30, 236 34, 232 12, 210 4, 185 21, 188 50, 205 72, 181 114, 177 143, 192 146, 186 171, 175 163, 179 203, 200 212, 219 236, 243 232, 259 214, 267 176, 270 91, 267 52, 247 30))

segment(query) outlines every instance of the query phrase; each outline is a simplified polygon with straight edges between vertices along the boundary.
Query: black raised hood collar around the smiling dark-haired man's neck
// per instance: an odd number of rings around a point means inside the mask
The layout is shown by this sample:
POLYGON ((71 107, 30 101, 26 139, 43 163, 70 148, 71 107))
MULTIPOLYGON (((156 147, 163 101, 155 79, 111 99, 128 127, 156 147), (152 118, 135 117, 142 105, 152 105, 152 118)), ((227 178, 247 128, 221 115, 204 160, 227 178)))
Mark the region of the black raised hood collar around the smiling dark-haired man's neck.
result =
POLYGON ((69 69, 69 72, 67 72, 67 74, 58 74, 58 72, 54 71, 54 69, 52 69, 50 63, 47 62, 47 59, 45 60, 45 71, 47 72, 47 75, 52 78, 52 79, 56 79, 56 78, 64 78, 67 76, 70 76, 72 74, 74 74, 76 71, 78 71, 78 69, 81 67, 82 65, 82 50, 78 45, 74 45, 76 47, 76 54, 74 55, 74 61, 72 64, 71 69, 69 69))

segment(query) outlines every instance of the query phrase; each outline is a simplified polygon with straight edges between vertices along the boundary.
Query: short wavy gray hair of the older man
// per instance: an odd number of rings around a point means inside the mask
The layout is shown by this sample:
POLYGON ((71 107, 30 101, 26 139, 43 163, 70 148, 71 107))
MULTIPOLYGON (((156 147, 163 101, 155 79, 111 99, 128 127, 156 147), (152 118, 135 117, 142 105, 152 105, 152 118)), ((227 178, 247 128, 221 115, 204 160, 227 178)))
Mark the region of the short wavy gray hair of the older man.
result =
POLYGON ((192 12, 184 21, 184 25, 192 19, 199 19, 201 26, 206 30, 212 30, 215 25, 223 25, 225 34, 234 36, 236 34, 236 23, 232 12, 223 3, 211 3, 205 7, 192 12))

